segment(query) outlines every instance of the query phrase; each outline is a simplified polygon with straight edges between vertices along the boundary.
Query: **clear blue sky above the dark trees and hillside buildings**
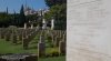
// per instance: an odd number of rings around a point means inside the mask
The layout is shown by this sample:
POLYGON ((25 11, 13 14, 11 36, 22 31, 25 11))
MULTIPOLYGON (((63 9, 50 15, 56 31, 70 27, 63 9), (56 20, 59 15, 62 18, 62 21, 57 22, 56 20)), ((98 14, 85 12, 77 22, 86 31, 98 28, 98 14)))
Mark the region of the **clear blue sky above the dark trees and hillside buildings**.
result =
POLYGON ((48 8, 44 0, 0 0, 0 12, 6 11, 7 7, 10 13, 20 12, 21 6, 26 3, 34 10, 48 8))

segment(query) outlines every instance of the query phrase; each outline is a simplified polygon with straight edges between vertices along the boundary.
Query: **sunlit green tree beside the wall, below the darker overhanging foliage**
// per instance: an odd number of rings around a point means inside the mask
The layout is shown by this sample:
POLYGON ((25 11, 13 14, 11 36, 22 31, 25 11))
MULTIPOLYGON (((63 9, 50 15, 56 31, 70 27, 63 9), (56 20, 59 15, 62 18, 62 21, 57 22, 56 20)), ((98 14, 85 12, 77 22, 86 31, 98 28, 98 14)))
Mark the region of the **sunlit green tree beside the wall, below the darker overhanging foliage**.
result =
POLYGON ((56 4, 50 8, 50 11, 44 14, 47 20, 51 20, 54 17, 56 29, 65 30, 67 29, 67 4, 56 4))

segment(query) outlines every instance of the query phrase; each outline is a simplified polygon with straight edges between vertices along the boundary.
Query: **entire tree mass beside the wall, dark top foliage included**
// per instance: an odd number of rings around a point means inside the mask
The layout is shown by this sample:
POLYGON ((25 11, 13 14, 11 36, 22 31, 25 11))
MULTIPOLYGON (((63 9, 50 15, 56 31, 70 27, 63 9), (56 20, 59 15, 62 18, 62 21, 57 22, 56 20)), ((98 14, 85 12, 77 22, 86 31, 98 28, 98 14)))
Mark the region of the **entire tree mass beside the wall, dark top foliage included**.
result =
POLYGON ((67 29, 67 0, 46 0, 49 12, 44 14, 47 20, 54 18, 57 30, 67 29))

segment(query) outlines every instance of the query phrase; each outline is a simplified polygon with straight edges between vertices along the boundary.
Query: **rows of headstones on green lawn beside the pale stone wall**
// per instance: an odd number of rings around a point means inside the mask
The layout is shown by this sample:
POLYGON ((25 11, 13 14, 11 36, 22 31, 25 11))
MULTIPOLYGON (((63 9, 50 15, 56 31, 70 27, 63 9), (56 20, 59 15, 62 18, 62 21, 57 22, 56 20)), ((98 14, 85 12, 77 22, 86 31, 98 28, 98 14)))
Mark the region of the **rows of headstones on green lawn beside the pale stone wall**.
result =
MULTIPOLYGON (((0 29, 0 40, 2 40, 1 42, 7 43, 8 48, 13 47, 12 49, 9 49, 9 52, 3 51, 3 49, 7 50, 7 47, 4 47, 2 49, 3 53, 23 53, 23 52, 36 53, 38 54, 39 59, 50 58, 50 57, 60 57, 60 55, 64 57, 65 37, 67 37, 67 33, 63 30, 39 30, 34 28, 0 29)), ((0 53, 2 52, 0 51, 0 53)), ((17 58, 13 59, 12 57, 8 60, 18 61, 18 60, 23 60, 24 58, 28 58, 28 60, 30 60, 29 58, 34 59, 33 57, 21 57, 18 59, 17 58)), ((6 60, 2 57, 0 59, 6 60)))

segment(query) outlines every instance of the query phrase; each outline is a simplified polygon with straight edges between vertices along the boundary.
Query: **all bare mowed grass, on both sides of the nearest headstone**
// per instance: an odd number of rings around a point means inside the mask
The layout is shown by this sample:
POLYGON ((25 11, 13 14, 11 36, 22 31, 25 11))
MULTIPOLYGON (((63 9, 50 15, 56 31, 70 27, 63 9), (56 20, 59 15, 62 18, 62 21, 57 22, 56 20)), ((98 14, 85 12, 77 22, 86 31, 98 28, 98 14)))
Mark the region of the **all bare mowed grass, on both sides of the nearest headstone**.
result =
MULTIPOLYGON (((6 41, 0 39, 0 54, 6 53, 37 53, 38 54, 37 43, 31 43, 29 50, 23 50, 22 44, 13 44, 12 41, 6 41)), ((47 48, 46 52, 49 52, 51 48, 47 48)), ((65 57, 53 57, 53 58, 40 58, 39 61, 65 61, 65 57)))

